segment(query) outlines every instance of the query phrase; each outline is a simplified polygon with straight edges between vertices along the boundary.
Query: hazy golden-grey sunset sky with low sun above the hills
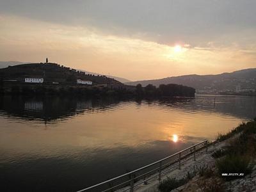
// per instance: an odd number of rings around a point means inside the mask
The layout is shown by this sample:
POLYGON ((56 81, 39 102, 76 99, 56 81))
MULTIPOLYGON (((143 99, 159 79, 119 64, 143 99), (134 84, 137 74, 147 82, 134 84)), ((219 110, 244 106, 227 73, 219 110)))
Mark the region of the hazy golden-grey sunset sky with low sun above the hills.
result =
POLYGON ((0 0, 0 60, 131 80, 256 67, 255 0, 0 0))

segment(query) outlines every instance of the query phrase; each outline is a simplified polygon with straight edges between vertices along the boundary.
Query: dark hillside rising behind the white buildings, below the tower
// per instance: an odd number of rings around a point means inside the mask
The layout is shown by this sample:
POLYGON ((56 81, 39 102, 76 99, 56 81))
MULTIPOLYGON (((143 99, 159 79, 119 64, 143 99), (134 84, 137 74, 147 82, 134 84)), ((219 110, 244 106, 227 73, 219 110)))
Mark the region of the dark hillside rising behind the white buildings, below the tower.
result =
POLYGON ((73 68, 68 68, 57 63, 28 63, 0 68, 0 79, 17 80, 24 82, 25 77, 44 78, 44 83, 76 83, 77 79, 92 81, 93 84, 116 84, 123 86, 122 83, 106 76, 95 76, 85 74, 73 68))

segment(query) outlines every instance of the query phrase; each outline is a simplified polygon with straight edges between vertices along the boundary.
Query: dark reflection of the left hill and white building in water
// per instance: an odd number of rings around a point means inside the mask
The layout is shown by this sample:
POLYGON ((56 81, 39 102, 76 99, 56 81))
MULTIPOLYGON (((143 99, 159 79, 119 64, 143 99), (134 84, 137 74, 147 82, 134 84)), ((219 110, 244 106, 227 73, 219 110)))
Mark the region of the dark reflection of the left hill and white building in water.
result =
POLYGON ((84 111, 98 113, 114 108, 120 101, 113 99, 86 100, 76 97, 2 97, 0 111, 2 114, 17 116, 27 120, 44 120, 68 118, 84 111))

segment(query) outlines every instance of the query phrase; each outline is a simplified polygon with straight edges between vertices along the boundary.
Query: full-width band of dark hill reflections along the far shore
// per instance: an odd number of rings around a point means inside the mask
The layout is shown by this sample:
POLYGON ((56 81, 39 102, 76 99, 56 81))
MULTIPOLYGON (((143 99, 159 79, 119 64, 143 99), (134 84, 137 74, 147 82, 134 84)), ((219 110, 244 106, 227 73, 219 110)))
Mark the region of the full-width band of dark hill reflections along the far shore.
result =
MULTIPOLYGON (((79 113, 100 113, 118 110, 122 104, 129 105, 131 100, 101 99, 86 100, 76 97, 2 97, 0 113, 26 120, 51 121, 68 118, 79 113)), ((256 97, 243 96, 205 96, 193 98, 174 98, 161 100, 133 100, 139 106, 145 104, 163 110, 179 109, 191 113, 220 113, 250 119, 256 116, 256 97), (214 97, 215 105, 214 105, 214 97)))

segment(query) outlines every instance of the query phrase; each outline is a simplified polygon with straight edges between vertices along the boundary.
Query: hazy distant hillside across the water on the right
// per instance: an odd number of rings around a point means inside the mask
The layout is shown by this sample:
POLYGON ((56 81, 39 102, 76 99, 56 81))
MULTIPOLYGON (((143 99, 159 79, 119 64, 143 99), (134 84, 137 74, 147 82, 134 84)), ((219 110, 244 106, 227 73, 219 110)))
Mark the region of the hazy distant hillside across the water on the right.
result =
POLYGON ((166 77, 163 79, 133 81, 125 84, 136 85, 139 83, 142 86, 146 86, 147 84, 153 84, 154 86, 170 83, 183 84, 195 88, 196 93, 255 92, 256 68, 248 68, 218 75, 199 76, 193 74, 188 76, 166 77))

